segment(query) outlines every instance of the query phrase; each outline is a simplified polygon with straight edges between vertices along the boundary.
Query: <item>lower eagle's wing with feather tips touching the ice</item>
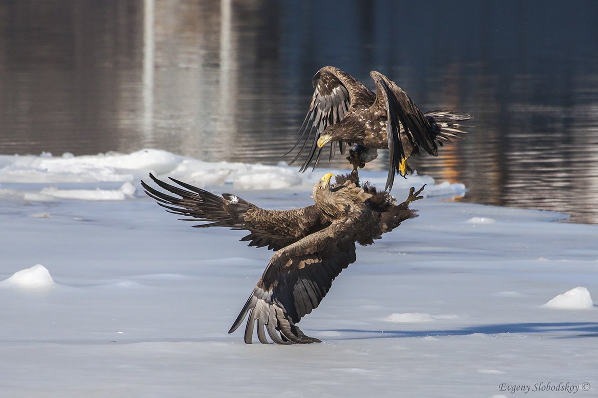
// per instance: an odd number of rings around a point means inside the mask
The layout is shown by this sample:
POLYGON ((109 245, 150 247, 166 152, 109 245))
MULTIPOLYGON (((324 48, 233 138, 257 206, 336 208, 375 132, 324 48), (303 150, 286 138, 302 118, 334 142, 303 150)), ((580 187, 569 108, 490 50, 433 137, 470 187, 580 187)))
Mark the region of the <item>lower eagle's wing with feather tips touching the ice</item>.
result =
POLYGON ((310 343, 296 325, 320 304, 332 281, 355 262, 355 242, 344 233, 347 225, 334 223, 274 254, 260 281, 228 333, 245 317, 245 342, 251 344, 255 323, 260 342, 266 332, 279 344, 310 343))

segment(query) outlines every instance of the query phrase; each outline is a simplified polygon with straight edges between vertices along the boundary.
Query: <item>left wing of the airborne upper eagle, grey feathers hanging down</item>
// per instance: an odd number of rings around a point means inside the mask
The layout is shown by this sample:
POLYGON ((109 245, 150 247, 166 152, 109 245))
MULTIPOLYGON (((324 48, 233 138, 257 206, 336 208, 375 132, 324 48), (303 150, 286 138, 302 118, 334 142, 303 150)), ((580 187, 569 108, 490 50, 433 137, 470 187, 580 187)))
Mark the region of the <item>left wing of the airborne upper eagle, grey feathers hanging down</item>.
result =
MULTIPOLYGON (((313 92, 312 103, 299 129, 297 142, 287 152, 291 153, 298 145, 301 145, 295 158, 289 162, 289 164, 292 164, 301 157, 306 148, 309 148, 306 160, 299 169, 300 172, 306 171, 312 162, 314 168, 318 164, 322 149, 318 148, 317 142, 322 132, 329 125, 343 120, 350 106, 364 101, 369 102, 369 106, 375 98, 374 93, 368 90, 367 87, 346 72, 334 68, 334 66, 325 66, 320 69, 313 76, 312 84, 316 88, 313 92), (309 146, 310 142, 311 146, 309 146)), ((344 154, 345 144, 343 141, 338 142, 341 154, 344 154)), ((330 160, 334 157, 335 151, 335 143, 332 143, 330 146, 330 160)))

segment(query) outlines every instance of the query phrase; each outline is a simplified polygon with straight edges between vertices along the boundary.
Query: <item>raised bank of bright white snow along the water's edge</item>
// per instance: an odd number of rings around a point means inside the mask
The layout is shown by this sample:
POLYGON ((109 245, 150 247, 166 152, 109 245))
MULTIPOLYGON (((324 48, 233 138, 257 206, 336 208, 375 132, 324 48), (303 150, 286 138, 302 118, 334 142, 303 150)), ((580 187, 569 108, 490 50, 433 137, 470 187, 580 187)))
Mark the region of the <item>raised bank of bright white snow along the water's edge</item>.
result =
MULTIPOLYGON (((135 194, 132 185, 114 189, 114 183, 138 184, 152 172, 158 177, 174 177, 205 187, 231 186, 237 190, 301 188, 309 191, 313 184, 327 172, 347 173, 348 170, 318 169, 299 173, 297 167, 279 163, 276 166, 229 162, 205 162, 172 154, 158 149, 142 149, 130 154, 74 156, 63 154, 54 157, 44 152, 39 156, 0 155, 0 183, 14 186, 2 187, 0 196, 21 196, 31 201, 57 199, 125 200, 135 194), (36 187, 33 184, 45 186, 36 187), (73 187, 72 185, 78 185, 73 187), (67 185, 67 186, 60 186, 67 185), (133 189, 132 189, 133 188, 133 189), (23 191, 27 191, 26 194, 23 191), (19 194, 20 192, 20 194, 19 194)), ((362 180, 384 186, 386 172, 361 171, 362 180)), ((460 197, 465 185, 460 183, 435 183, 428 176, 413 175, 408 179, 396 178, 395 191, 419 188, 426 184, 424 196, 460 197)), ((141 196, 141 195, 140 195, 141 196)))

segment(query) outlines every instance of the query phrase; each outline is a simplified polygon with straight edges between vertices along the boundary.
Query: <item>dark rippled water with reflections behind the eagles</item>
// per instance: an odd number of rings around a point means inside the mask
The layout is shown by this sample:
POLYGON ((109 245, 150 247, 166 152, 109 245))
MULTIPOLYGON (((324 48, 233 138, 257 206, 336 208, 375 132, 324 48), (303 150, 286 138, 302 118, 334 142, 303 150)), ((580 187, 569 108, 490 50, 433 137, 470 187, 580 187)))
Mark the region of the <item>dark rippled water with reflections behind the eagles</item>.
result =
POLYGON ((277 163, 324 65, 475 115, 410 161, 464 200, 598 223, 595 1, 0 0, 0 153, 277 163))

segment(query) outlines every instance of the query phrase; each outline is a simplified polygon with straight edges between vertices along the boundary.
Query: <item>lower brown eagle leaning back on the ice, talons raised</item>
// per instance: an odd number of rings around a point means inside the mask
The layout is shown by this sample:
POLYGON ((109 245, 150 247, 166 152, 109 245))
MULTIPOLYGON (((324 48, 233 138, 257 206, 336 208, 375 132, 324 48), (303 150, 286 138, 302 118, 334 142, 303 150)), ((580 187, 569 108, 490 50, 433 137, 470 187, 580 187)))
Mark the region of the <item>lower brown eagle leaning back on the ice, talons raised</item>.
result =
POLYGON ((194 226, 227 226, 246 229, 241 240, 249 246, 275 251, 229 333, 245 317, 245 342, 251 344, 255 323, 260 342, 267 344, 267 330, 279 344, 319 342, 306 336, 297 323, 318 307, 332 281, 355 262, 355 243, 371 244, 402 221, 417 216, 409 203, 422 197, 422 189, 401 204, 373 186, 358 186, 357 173, 338 176, 331 186, 326 174, 313 188, 314 204, 292 210, 267 210, 232 194, 221 197, 172 179, 170 185, 149 174, 152 180, 177 197, 142 182, 145 192, 169 212, 186 220, 205 221, 194 226))

